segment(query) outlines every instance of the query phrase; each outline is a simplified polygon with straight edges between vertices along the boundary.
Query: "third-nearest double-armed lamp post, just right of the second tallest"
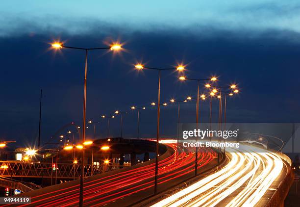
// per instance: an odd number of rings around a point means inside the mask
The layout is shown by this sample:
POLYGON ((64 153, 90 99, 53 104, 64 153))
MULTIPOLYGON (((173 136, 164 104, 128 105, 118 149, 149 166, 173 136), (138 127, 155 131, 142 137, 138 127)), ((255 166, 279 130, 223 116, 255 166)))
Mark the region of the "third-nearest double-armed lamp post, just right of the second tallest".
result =
MULTIPOLYGON (((200 87, 200 81, 216 81, 216 77, 212 77, 209 79, 194 79, 194 78, 186 78, 184 76, 179 77, 180 80, 194 80, 197 81, 197 104, 196 104, 196 128, 199 127, 199 87, 200 87)), ((206 84, 205 87, 210 87, 209 84, 206 84)), ((197 141, 197 140, 196 140, 197 141)), ((195 176, 198 175, 198 147, 195 149, 195 176)))

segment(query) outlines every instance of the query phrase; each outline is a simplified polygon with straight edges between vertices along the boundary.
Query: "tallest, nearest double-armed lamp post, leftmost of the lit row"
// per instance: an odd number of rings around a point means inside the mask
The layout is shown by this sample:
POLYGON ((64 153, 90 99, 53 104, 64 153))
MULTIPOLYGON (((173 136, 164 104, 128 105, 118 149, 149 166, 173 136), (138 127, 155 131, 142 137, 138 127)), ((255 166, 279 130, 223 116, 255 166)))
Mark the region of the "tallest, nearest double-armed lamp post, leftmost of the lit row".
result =
MULTIPOLYGON (((55 49, 74 49, 74 50, 82 50, 85 51, 85 75, 84 75, 84 95, 83 95, 83 125, 82 125, 82 143, 85 142, 85 112, 86 112, 86 81, 87 81, 87 59, 88 59, 88 51, 91 50, 111 50, 118 51, 121 48, 121 45, 114 44, 110 47, 103 48, 78 48, 78 47, 69 47, 65 46, 62 43, 53 43, 52 47, 55 49)), ((79 190, 79 207, 83 206, 83 179, 84 179, 84 149, 82 150, 82 158, 81 158, 81 175, 80 175, 80 190, 79 190)))

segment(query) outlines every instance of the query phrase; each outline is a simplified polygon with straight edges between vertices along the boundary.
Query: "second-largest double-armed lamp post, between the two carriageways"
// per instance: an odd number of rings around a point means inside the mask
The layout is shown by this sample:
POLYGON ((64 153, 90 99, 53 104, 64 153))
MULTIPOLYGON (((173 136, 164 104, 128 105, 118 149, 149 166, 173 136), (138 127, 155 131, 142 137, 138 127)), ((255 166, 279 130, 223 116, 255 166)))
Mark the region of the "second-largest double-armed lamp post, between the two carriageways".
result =
MULTIPOLYGON (((157 99, 157 127, 156 127, 156 156, 155 156, 155 176, 154 176, 154 194, 157 194, 157 181, 158 181, 158 141, 159 141, 159 116, 160 116, 160 76, 161 71, 166 70, 177 70, 183 71, 185 68, 183 65, 178 65, 176 68, 152 68, 152 67, 145 67, 142 64, 135 65, 137 70, 149 69, 158 71, 158 99, 157 99)), ((155 105, 155 103, 154 103, 155 105)))

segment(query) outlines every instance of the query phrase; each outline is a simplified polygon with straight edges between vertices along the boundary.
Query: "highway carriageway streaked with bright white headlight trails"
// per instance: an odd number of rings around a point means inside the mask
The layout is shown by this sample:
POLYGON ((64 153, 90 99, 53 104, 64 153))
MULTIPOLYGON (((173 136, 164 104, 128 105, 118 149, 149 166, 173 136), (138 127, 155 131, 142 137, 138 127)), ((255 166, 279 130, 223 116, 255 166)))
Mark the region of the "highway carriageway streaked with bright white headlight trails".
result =
POLYGON ((222 169, 152 207, 265 206, 290 166, 280 154, 247 149, 227 149, 229 162, 222 169))

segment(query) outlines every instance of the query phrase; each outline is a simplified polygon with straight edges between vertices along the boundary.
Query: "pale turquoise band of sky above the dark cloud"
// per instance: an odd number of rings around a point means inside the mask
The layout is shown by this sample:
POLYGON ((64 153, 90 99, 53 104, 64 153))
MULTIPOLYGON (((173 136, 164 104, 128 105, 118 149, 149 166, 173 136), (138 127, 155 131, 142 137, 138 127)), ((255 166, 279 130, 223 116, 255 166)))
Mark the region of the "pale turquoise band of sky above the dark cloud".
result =
POLYGON ((126 31, 173 28, 197 32, 203 29, 199 26, 299 31, 299 11, 298 0, 9 0, 0 3, 0 35, 50 28, 78 34, 94 26, 118 26, 126 31))

